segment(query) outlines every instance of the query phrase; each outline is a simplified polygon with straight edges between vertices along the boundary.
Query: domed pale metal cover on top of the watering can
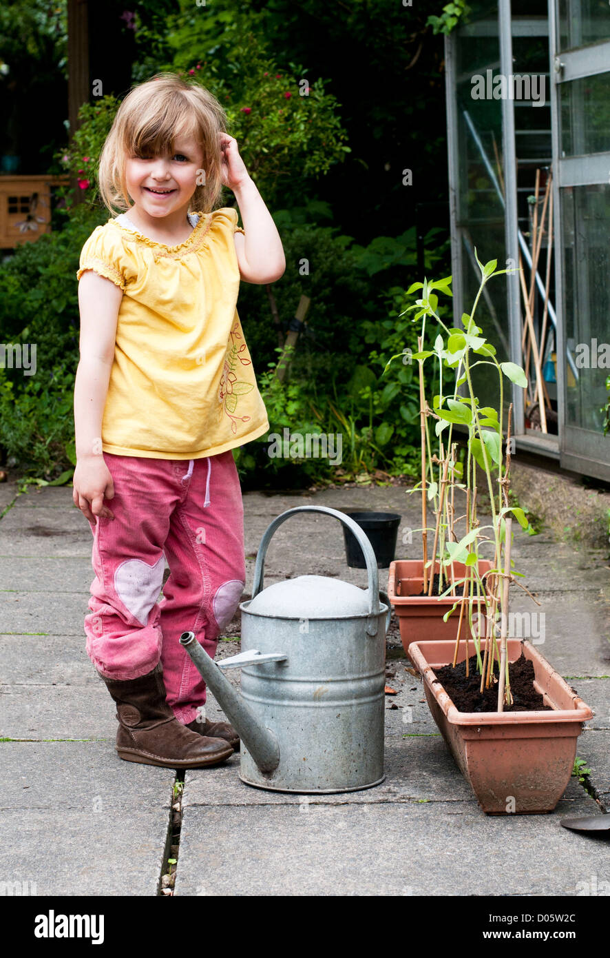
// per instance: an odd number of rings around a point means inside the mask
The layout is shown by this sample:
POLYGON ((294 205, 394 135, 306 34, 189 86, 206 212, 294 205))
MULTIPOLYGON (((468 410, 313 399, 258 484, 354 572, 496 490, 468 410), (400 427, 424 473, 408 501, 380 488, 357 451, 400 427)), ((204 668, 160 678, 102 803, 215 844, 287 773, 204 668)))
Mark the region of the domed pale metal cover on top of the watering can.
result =
POLYGON ((247 610, 271 618, 338 619, 368 614, 369 594, 341 579, 299 576, 268 585, 247 610))

